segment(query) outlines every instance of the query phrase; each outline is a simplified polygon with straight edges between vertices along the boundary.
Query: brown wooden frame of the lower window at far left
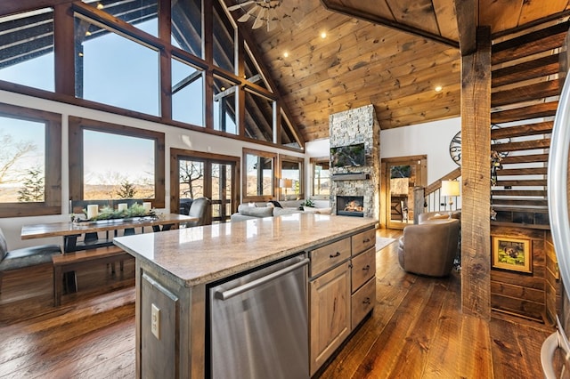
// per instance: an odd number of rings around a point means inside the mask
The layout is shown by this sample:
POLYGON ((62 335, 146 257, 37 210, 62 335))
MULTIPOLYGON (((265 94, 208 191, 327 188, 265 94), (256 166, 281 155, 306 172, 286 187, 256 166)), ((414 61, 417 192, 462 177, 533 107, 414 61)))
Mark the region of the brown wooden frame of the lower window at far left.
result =
POLYGON ((0 203, 0 218, 61 214, 61 115, 2 103, 0 115, 45 124, 44 201, 0 203))

